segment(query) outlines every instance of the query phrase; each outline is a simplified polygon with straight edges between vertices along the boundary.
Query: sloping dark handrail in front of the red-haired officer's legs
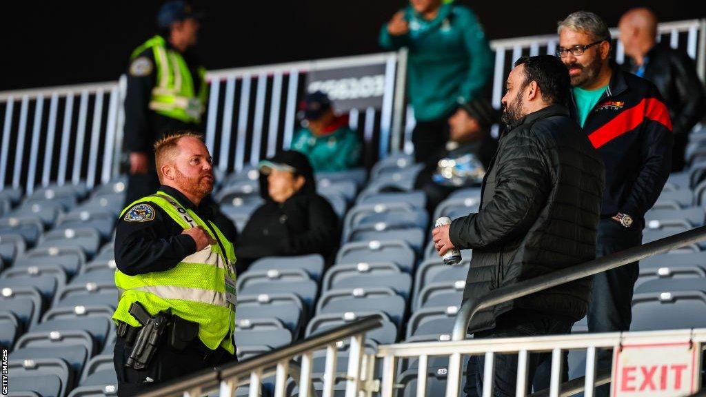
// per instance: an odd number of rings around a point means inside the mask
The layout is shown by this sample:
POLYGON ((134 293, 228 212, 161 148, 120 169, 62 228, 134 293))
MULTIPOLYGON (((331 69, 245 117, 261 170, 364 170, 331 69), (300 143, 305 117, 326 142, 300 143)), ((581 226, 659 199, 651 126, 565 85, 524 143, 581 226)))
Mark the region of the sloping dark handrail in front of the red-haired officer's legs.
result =
POLYGON ((366 333, 372 329, 380 327, 381 325, 382 322, 378 316, 364 317, 363 319, 352 321, 344 326, 333 328, 330 331, 320 333, 316 336, 311 336, 310 338, 306 338, 304 340, 299 340, 291 345, 278 348, 263 355, 251 357, 247 360, 234 364, 216 367, 215 369, 204 369, 203 371, 189 375, 188 377, 165 381, 159 389, 155 389, 154 391, 150 391, 148 393, 143 393, 140 396, 172 396, 175 393, 188 391, 201 385, 214 386, 219 384, 222 379, 226 378, 244 379, 249 377, 250 372, 255 369, 274 367, 278 363, 282 362, 282 360, 286 360, 290 357, 296 357, 305 352, 317 350, 318 348, 324 348, 325 346, 335 343, 338 340, 350 338, 352 336, 359 335, 360 333, 366 333))

